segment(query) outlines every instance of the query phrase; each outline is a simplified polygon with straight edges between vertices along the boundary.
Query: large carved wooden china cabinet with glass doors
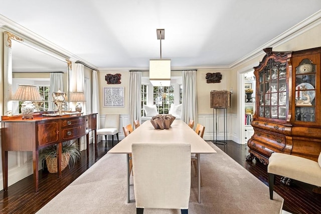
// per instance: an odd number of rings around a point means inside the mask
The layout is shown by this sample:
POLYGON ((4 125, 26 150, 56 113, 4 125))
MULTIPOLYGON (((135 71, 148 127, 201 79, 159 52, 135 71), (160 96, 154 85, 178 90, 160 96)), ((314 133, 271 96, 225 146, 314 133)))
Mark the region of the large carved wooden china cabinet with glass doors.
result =
POLYGON ((317 161, 321 151, 321 47, 263 50, 254 67, 256 111, 247 160, 268 164, 273 152, 317 161))

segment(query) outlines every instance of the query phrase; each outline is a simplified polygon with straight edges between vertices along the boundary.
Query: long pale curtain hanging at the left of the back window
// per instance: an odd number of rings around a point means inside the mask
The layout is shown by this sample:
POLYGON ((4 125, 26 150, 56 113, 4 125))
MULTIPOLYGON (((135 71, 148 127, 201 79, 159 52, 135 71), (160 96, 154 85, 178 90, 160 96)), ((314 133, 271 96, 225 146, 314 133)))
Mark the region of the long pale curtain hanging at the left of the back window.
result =
POLYGON ((134 120, 139 120, 141 123, 140 116, 140 92, 141 87, 141 72, 130 71, 129 72, 129 123, 134 127, 134 120))

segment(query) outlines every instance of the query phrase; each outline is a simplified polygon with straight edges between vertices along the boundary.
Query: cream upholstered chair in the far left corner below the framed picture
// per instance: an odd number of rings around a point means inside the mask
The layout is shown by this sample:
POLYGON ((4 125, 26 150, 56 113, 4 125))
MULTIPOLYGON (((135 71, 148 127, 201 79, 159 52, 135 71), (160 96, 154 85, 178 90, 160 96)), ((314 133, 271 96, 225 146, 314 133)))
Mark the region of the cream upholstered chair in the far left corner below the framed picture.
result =
POLYGON ((107 146, 107 136, 111 135, 111 145, 114 146, 114 135, 117 136, 117 142, 119 142, 118 128, 119 114, 106 114, 104 127, 97 130, 97 136, 105 135, 107 146))

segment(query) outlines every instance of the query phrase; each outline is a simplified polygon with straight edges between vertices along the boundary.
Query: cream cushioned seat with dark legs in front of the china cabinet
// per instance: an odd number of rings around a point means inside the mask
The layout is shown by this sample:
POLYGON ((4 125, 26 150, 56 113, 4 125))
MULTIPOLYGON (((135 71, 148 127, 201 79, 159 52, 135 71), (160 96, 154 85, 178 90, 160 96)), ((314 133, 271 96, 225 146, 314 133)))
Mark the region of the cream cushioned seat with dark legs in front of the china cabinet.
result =
POLYGON ((318 161, 290 154, 272 153, 267 166, 270 199, 273 199, 275 174, 321 186, 321 153, 318 161))

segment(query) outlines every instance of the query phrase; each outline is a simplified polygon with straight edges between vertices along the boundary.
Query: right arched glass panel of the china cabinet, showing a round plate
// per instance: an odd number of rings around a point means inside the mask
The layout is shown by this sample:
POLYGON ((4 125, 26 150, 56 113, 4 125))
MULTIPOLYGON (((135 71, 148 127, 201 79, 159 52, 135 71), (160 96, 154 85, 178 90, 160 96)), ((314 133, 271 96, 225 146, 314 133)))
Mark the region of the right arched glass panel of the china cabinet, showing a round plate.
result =
POLYGON ((309 59, 295 67, 295 121, 315 122, 315 68, 309 59))

